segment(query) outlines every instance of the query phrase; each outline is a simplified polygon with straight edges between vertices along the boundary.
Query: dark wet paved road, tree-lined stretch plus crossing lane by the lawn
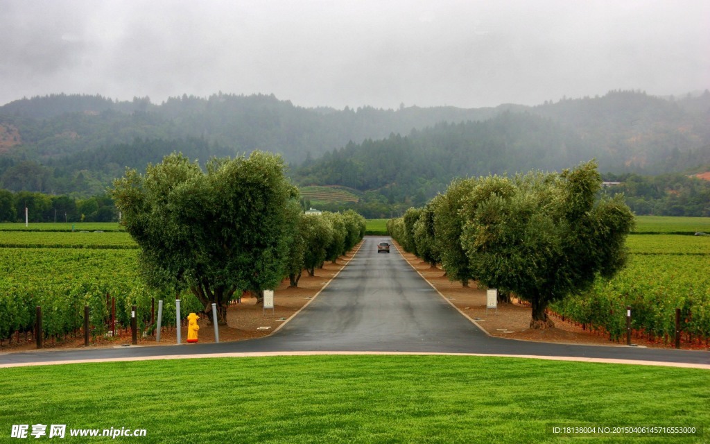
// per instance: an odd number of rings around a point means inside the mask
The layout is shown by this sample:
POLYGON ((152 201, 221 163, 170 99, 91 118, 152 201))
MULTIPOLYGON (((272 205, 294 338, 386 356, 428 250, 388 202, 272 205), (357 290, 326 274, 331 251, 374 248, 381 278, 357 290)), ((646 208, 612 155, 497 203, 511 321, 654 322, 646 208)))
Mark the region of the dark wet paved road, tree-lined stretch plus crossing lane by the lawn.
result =
POLYGON ((0 364, 297 351, 516 354, 710 364, 710 352, 488 337, 439 296, 395 249, 378 254, 376 245, 385 239, 366 237, 358 254, 320 296, 270 337, 220 344, 8 353, 0 354, 0 364))

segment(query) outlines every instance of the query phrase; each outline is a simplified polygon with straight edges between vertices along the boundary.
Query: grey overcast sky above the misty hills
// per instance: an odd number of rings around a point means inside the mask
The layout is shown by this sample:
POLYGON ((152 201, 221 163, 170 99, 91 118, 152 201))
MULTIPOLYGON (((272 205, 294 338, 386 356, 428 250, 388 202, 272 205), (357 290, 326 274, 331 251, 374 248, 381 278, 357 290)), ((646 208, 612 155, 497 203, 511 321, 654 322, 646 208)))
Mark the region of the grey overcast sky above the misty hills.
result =
POLYGON ((0 104, 221 90, 485 107, 706 88, 709 0, 0 0, 0 104))

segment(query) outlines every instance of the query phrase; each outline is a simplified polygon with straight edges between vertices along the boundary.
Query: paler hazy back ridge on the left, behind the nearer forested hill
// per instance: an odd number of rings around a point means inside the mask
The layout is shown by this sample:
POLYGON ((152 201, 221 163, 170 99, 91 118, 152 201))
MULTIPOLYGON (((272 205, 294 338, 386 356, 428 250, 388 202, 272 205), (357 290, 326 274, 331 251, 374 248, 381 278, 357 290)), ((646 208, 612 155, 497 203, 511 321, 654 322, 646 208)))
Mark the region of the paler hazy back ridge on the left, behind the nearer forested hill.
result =
POLYGON ((156 105, 147 97, 118 102, 100 96, 55 94, 0 107, 0 152, 40 162, 81 151, 129 144, 134 139, 203 138, 231 148, 274 151, 290 163, 318 157, 349 141, 408 133, 439 121, 487 119, 512 106, 484 109, 364 107, 306 109, 273 95, 214 94, 170 98, 156 105), (2 138, 13 134, 13 138, 2 138))

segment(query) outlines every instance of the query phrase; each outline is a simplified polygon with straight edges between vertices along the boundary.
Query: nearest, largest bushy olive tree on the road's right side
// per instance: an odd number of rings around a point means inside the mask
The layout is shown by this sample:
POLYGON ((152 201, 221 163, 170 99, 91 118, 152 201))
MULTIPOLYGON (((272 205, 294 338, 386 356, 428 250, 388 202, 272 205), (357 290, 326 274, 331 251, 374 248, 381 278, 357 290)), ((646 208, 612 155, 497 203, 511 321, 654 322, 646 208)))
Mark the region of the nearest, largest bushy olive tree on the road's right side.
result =
POLYGON ((531 328, 554 325, 545 308, 611 277, 625 264, 633 214, 623 197, 597 200, 594 161, 560 174, 479 180, 464 205, 461 244, 476 278, 532 305, 531 328))

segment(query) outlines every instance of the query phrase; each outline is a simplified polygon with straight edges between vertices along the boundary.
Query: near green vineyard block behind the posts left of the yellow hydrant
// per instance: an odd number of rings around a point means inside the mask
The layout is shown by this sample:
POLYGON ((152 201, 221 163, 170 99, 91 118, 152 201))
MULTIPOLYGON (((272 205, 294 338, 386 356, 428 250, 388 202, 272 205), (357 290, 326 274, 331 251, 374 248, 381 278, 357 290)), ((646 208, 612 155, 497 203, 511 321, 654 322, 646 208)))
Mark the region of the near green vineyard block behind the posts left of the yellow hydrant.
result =
MULTIPOLYGON (((55 233, 46 235, 48 243, 56 242, 55 233)), ((131 305, 138 305, 138 327, 149 327, 153 298, 165 300, 163 324, 174 325, 175 295, 136 283, 136 254, 136 249, 0 248, 0 345, 12 342, 13 335, 33 334, 37 305, 43 309, 44 339, 50 341, 78 334, 84 305, 90 308, 92 335, 105 335, 114 301, 119 328, 130 325, 131 305)), ((181 298, 185 313, 202 310, 191 294, 181 298)))

